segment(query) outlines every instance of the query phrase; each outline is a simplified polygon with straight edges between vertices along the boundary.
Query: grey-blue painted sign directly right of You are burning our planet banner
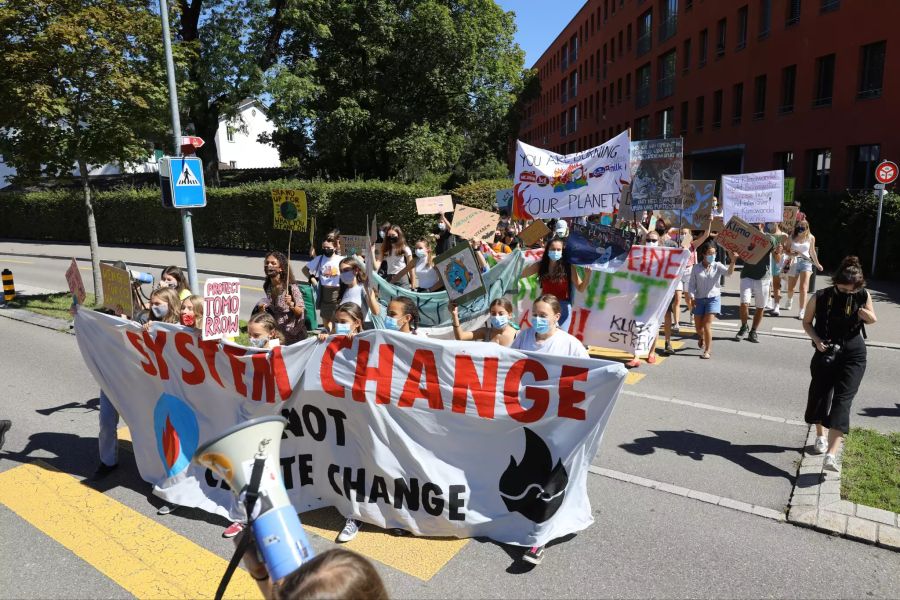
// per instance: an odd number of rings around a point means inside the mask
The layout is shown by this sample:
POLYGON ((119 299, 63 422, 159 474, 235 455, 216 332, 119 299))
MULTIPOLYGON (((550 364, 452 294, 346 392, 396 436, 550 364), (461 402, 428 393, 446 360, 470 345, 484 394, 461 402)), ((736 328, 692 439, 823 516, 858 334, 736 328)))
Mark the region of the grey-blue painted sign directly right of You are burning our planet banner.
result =
POLYGON ((683 147, 681 138, 631 143, 632 210, 681 208, 683 147))

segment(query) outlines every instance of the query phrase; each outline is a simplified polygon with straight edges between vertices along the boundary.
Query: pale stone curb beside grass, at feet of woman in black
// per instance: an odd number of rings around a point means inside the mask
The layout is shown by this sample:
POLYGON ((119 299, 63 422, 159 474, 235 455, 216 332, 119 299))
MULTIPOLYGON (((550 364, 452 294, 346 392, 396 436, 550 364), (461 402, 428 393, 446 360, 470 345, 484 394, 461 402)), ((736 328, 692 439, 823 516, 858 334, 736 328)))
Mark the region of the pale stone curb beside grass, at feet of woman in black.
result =
POLYGON ((841 474, 824 471, 823 456, 809 454, 815 441, 816 429, 811 425, 791 493, 788 523, 900 552, 900 514, 841 500, 841 474))

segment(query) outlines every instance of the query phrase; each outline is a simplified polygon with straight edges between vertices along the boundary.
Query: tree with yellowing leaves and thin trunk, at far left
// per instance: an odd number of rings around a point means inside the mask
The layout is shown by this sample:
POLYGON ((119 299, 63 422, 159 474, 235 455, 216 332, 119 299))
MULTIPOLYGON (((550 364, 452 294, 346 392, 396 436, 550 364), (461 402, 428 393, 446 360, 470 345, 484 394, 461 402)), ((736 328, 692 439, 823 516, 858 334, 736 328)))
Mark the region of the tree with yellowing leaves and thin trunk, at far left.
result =
POLYGON ((159 17, 141 0, 6 0, 0 31, 0 152, 20 180, 77 166, 102 303, 88 173, 146 160, 165 136, 159 17))

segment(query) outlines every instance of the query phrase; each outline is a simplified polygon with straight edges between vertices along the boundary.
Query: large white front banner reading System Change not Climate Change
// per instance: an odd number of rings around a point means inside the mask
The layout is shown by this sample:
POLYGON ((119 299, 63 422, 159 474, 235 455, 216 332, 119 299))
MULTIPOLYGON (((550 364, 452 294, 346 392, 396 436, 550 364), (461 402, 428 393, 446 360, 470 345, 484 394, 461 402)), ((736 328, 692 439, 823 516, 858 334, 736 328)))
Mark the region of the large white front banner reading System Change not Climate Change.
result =
POLYGON ((587 470, 626 374, 384 331, 267 352, 86 310, 75 329, 131 430, 141 477, 168 502, 240 517, 231 491, 190 458, 229 427, 281 414, 297 510, 334 506, 378 527, 523 546, 593 522, 587 470))

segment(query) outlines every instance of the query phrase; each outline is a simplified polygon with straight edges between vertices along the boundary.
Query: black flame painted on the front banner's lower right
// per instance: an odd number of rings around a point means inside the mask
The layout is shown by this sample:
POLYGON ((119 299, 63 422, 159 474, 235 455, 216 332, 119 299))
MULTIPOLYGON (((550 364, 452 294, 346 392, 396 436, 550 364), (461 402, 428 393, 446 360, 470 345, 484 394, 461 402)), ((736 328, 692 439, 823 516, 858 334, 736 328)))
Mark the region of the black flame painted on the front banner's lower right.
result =
POLYGON ((527 427, 522 462, 509 457, 509 466, 500 477, 500 497, 510 512, 543 523, 559 510, 566 497, 569 474, 562 461, 553 466, 553 456, 544 440, 527 427))

